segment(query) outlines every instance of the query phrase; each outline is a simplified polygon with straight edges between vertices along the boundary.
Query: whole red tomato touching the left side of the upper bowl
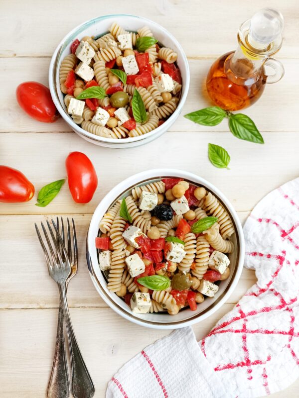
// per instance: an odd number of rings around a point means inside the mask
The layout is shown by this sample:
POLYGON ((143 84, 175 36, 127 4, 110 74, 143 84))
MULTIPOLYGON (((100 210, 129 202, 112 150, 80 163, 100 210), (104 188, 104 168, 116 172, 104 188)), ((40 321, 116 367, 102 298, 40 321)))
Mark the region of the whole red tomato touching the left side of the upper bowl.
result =
POLYGON ((20 107, 33 119, 53 123, 58 118, 50 90, 37 82, 24 82, 16 88, 20 107))

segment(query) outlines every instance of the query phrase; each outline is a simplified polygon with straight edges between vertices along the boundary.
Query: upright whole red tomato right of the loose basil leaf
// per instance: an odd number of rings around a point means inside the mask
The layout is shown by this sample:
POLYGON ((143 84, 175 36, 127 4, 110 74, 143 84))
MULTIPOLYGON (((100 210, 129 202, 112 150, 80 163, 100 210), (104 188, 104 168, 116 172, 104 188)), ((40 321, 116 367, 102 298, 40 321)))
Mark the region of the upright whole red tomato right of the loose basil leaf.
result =
POLYGON ((88 203, 98 186, 98 177, 90 159, 82 152, 71 152, 65 161, 68 185, 77 203, 88 203))

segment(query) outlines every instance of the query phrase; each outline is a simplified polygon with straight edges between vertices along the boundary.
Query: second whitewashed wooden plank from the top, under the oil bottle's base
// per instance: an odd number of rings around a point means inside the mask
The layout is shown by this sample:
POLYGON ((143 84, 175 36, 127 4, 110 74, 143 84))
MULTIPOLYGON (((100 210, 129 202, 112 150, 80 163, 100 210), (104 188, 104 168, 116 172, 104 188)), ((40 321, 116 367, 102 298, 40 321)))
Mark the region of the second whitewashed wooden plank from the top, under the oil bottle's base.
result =
MULTIPOLYGON (((299 87, 299 59, 282 61, 286 69, 284 78, 277 84, 267 85, 261 99, 244 111, 253 118, 261 132, 298 131, 296 117, 290 115, 297 112, 297 102, 292 99, 297 98, 299 87)), ((191 84, 188 97, 180 116, 169 131, 229 132, 227 120, 214 127, 205 127, 183 117, 186 113, 211 105, 204 82, 212 62, 210 59, 189 60, 191 84)), ((55 123, 40 123, 31 119, 15 100, 15 89, 21 82, 34 80, 48 86, 49 63, 49 58, 0 58, 0 81, 5 93, 0 98, 0 108, 5 115, 1 118, 0 132, 72 131, 62 118, 55 123)))

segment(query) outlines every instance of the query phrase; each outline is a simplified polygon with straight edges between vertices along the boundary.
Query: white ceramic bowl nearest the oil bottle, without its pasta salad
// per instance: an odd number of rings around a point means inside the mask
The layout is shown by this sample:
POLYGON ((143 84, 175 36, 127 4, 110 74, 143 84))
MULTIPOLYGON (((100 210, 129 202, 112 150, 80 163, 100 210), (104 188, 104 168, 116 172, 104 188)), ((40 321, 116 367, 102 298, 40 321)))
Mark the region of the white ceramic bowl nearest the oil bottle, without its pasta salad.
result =
POLYGON ((168 128, 173 124, 178 115, 180 114, 182 107, 185 103, 190 81, 189 65, 185 53, 178 43, 178 41, 162 26, 151 21, 150 19, 127 14, 115 14, 115 15, 104 15, 99 16, 94 19, 90 19, 87 22, 75 27, 71 32, 69 32, 59 43, 51 59, 49 68, 49 87, 51 91, 52 99, 57 107, 59 113, 68 123, 68 125, 82 138, 96 145, 106 146, 110 148, 128 148, 133 146, 142 145, 145 142, 149 142, 152 139, 159 137, 161 134, 165 133, 168 128), (172 48, 177 52, 177 65, 180 69, 182 76, 182 93, 176 110, 172 115, 159 127, 150 131, 147 134, 133 137, 133 138, 122 138, 113 139, 99 137, 94 134, 89 133, 84 130, 76 123, 74 123, 71 116, 66 111, 66 106, 63 101, 63 94, 60 91, 59 85, 59 68, 63 58, 70 53, 70 45, 76 38, 81 39, 84 36, 95 36, 99 37, 109 31, 109 27, 112 23, 118 22, 124 29, 130 31, 137 31, 143 26, 149 26, 154 37, 161 42, 164 46, 172 48), (141 142, 144 141, 145 142, 141 142), (138 142, 138 144, 137 144, 138 142))

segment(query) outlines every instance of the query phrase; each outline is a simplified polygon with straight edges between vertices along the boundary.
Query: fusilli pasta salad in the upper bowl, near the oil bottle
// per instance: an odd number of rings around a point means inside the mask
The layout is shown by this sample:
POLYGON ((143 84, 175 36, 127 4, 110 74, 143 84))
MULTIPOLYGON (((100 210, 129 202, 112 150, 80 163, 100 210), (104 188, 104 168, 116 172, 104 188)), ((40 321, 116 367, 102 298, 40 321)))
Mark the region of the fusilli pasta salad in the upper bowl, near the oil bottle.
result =
POLYGON ((60 90, 67 112, 84 130, 106 138, 137 137, 161 125, 176 109, 182 81, 177 53, 145 26, 85 36, 61 62, 60 90))

